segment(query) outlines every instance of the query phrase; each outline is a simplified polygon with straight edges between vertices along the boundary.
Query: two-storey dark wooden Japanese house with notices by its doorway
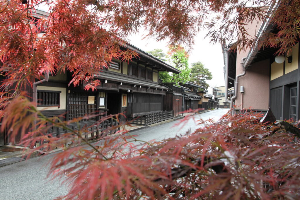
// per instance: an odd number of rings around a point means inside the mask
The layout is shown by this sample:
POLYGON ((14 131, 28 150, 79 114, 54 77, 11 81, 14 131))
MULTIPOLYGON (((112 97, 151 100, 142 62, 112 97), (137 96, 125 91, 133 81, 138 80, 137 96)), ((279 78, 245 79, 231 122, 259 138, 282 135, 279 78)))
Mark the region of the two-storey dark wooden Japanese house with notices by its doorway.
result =
MULTIPOLYGON (((50 76, 48 82, 37 86, 38 108, 47 116, 66 113, 67 120, 102 112, 103 115, 124 113, 120 117, 126 121, 163 112, 164 96, 169 88, 158 83, 158 72, 180 71, 135 46, 128 44, 127 48, 137 51, 140 58, 133 58, 129 63, 112 60, 108 69, 95 76, 101 81, 96 91, 84 91, 84 84, 67 86, 70 72, 50 76)), ((97 117, 84 121, 95 120, 97 117)))

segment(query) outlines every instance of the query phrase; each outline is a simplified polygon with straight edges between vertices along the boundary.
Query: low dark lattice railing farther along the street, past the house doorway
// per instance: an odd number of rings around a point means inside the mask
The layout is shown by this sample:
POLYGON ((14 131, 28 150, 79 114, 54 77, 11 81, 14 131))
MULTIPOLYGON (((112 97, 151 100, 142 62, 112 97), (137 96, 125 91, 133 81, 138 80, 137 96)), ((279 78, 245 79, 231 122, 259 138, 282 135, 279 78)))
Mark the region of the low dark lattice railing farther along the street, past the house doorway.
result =
POLYGON ((134 121, 131 124, 144 125, 154 124, 156 122, 174 118, 174 111, 152 112, 147 114, 134 115, 134 121))

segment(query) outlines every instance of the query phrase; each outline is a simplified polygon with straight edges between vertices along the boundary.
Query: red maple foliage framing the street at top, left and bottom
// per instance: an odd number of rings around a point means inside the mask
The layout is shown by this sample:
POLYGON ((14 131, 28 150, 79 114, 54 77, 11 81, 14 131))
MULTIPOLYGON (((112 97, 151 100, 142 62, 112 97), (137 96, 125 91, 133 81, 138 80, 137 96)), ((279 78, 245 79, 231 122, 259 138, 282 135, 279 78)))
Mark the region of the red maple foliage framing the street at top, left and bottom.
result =
MULTIPOLYGON (((157 40, 191 47, 193 36, 207 26, 212 42, 239 33, 237 45, 247 48, 256 38, 244 37, 245 23, 265 19, 262 7, 273 3, 251 1, 259 6, 249 7, 249 1, 232 0, 1 1, 2 129, 9 127, 11 137, 21 132, 23 145, 40 140, 46 141, 39 147, 44 150, 64 149, 51 172, 67 175, 67 199, 297 199, 299 143, 283 129, 258 123, 253 113, 225 115, 193 134, 156 143, 135 145, 131 136, 111 138, 104 133, 103 142, 91 145, 82 138, 91 132, 88 127, 69 130, 63 138, 46 137, 47 122, 65 129, 70 122, 44 117, 21 92, 48 71, 71 71, 69 84, 83 81, 87 90, 94 89, 100 84, 94 75, 112 58, 138 56, 125 41, 141 27, 157 40), (35 8, 44 2, 51 13, 36 19, 35 8), (35 120, 38 128, 28 133, 35 120), (66 145, 82 140, 90 149, 66 145)), ((268 35, 264 45, 286 52, 298 41, 299 4, 280 1, 271 19, 279 31, 268 35)))

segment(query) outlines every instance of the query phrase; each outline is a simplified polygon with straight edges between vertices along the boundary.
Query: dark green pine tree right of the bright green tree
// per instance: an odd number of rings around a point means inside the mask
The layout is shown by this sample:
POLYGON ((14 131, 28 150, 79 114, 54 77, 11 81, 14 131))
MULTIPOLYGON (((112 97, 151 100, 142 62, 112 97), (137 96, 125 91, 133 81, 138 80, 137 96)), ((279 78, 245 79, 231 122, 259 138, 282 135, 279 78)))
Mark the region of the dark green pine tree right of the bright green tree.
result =
POLYGON ((200 61, 192 63, 190 76, 192 82, 198 85, 202 85, 205 88, 208 88, 209 86, 206 80, 212 79, 211 72, 207 68, 205 68, 204 64, 202 64, 202 62, 200 61))

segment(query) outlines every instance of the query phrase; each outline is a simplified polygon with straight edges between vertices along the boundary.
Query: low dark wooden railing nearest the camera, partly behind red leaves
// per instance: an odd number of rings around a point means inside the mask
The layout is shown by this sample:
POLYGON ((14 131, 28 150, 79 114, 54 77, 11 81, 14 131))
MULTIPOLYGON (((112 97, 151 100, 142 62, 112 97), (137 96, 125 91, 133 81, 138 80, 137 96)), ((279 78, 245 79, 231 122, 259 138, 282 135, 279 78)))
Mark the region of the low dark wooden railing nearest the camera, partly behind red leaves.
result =
MULTIPOLYGON (((119 119, 120 121, 120 119, 119 119)), ((95 122, 84 122, 80 124, 70 124, 68 128, 70 128, 73 131, 81 131, 82 138, 85 138, 87 140, 96 140, 100 139, 101 137, 115 134, 117 131, 120 130, 120 127, 118 126, 119 122, 111 119, 103 121, 99 124, 95 122)), ((62 129, 60 127, 52 127, 47 130, 47 133, 45 135, 51 135, 52 137, 61 138, 64 137, 65 133, 70 133, 70 130, 62 129)), ((77 136, 74 136, 78 139, 77 136)), ((47 143, 48 141, 40 141, 40 143, 47 143)), ((66 144, 69 145, 69 144, 66 144)))

